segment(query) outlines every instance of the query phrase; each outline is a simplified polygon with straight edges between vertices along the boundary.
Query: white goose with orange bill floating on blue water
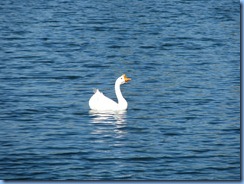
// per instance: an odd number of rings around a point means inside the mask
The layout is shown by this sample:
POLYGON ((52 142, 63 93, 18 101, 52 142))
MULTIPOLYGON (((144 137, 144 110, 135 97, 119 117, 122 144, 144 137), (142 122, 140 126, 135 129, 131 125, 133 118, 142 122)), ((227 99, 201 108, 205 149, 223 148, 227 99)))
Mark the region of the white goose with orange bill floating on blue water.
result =
POLYGON ((127 101, 122 96, 120 91, 120 85, 127 83, 131 79, 126 77, 125 74, 120 76, 115 82, 115 93, 118 99, 118 103, 106 97, 103 93, 101 93, 98 89, 94 92, 95 94, 89 100, 89 106, 92 110, 98 111, 119 111, 126 110, 128 107, 127 101))

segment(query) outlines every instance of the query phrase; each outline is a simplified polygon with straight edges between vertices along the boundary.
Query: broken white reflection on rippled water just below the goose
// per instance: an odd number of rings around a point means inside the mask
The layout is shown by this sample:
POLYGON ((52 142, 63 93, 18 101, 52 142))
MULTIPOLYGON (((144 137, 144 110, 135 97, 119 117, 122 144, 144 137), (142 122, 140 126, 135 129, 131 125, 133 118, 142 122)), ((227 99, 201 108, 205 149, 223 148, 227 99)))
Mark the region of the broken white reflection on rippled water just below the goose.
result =
POLYGON ((95 111, 90 110, 91 123, 100 125, 95 126, 92 134, 110 134, 111 131, 116 133, 116 137, 121 137, 126 133, 126 111, 95 111), (113 126, 107 126, 113 125, 113 126), (112 130, 111 130, 112 129, 112 130))

